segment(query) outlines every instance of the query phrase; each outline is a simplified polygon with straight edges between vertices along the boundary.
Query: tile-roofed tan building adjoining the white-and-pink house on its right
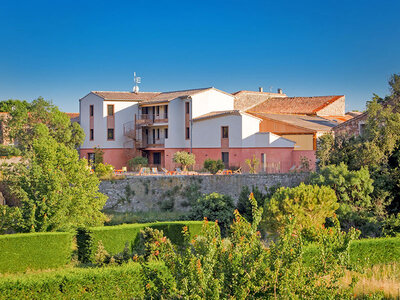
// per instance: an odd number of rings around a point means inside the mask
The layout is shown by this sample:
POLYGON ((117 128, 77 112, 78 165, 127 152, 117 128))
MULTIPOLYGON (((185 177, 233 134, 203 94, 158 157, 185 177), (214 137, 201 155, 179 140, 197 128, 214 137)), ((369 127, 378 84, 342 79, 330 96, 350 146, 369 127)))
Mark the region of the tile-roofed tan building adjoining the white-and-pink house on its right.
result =
POLYGON ((315 162, 317 138, 352 118, 345 114, 345 96, 287 97, 280 93, 240 91, 235 107, 262 119, 261 132, 272 132, 296 142, 295 160, 315 162), (278 96, 276 96, 278 95, 278 96))

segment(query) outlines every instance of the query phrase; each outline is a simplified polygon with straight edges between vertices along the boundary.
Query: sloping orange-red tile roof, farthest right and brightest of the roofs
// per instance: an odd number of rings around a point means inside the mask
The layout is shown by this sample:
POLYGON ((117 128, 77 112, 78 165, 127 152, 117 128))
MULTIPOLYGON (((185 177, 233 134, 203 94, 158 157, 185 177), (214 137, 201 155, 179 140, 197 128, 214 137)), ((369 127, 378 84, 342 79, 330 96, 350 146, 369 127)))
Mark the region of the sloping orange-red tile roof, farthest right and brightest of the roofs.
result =
POLYGON ((248 111, 276 114, 315 115, 319 110, 342 97, 344 96, 269 98, 252 107, 248 111))

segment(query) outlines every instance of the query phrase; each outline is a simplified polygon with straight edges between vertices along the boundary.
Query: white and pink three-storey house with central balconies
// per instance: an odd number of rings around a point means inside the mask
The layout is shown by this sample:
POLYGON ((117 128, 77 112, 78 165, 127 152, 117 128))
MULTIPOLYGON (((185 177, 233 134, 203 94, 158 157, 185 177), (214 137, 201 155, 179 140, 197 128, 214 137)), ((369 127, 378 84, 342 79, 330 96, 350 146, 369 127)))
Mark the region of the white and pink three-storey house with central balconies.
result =
POLYGON ((104 161, 115 168, 143 155, 151 165, 173 169, 177 151, 193 152, 195 169, 207 158, 246 168, 245 159, 253 155, 261 171, 286 172, 299 165, 294 141, 260 132, 263 119, 235 105, 234 95, 215 88, 93 91, 80 99, 80 125, 86 134, 80 155, 93 159, 94 148, 101 148, 104 161))

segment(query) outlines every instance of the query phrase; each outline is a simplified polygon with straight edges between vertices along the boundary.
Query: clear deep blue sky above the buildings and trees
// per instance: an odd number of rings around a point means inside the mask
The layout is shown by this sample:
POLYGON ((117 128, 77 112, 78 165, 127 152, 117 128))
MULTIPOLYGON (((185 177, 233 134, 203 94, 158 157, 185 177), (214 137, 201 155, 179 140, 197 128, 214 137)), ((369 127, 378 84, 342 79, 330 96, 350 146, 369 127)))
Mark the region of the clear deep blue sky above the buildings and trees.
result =
POLYGON ((346 95, 400 73, 400 1, 0 0, 0 99, 77 112, 91 90, 214 86, 346 95))

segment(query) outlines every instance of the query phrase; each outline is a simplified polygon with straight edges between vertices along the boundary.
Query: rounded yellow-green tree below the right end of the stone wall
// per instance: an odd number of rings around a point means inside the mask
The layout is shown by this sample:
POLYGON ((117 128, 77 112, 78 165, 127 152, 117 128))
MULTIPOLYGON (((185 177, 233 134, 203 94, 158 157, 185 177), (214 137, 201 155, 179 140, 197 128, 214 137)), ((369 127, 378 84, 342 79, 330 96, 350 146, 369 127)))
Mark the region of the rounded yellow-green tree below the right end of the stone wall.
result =
POLYGON ((314 231, 333 217, 339 204, 335 191, 329 187, 305 185, 280 188, 265 202, 263 225, 268 232, 281 234, 287 226, 287 216, 297 220, 299 232, 314 231))

